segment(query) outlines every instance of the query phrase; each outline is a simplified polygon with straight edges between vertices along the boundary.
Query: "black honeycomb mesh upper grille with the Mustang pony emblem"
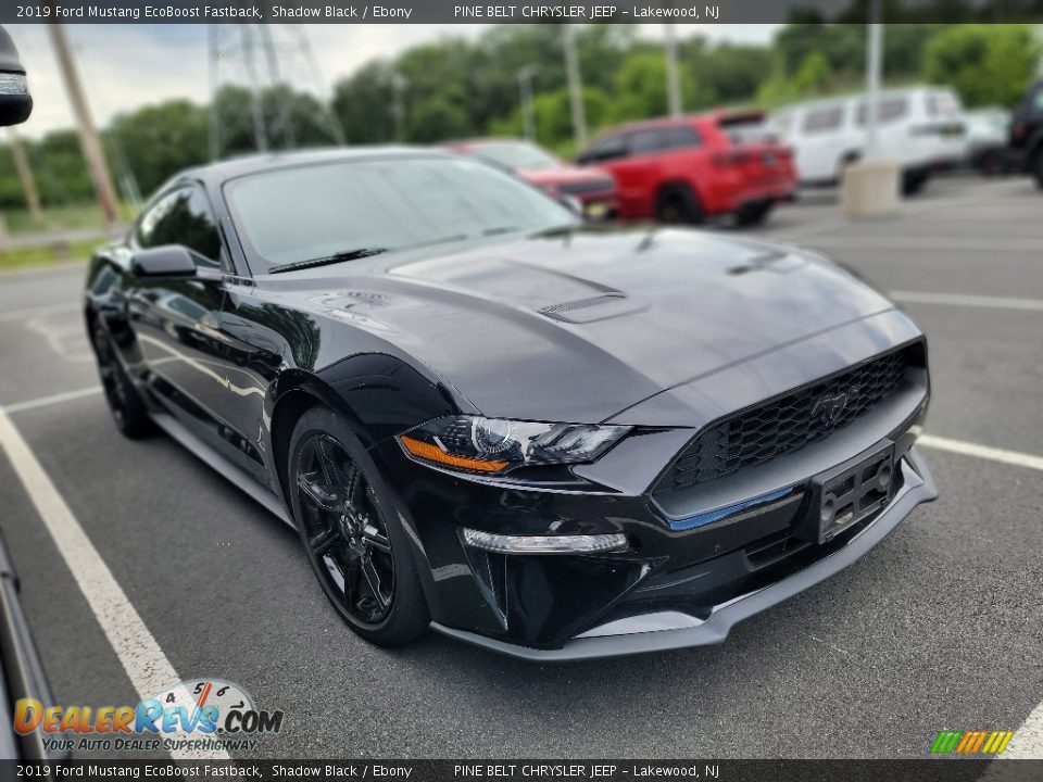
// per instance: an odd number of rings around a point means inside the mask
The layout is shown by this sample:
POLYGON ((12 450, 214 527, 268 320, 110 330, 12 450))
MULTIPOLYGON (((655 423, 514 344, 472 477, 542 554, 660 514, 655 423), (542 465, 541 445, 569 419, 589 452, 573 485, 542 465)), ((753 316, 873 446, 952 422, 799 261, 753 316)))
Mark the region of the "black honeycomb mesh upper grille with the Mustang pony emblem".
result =
POLYGON ((722 478, 829 437, 897 390, 913 350, 887 353, 711 424, 681 452, 656 491, 722 478))

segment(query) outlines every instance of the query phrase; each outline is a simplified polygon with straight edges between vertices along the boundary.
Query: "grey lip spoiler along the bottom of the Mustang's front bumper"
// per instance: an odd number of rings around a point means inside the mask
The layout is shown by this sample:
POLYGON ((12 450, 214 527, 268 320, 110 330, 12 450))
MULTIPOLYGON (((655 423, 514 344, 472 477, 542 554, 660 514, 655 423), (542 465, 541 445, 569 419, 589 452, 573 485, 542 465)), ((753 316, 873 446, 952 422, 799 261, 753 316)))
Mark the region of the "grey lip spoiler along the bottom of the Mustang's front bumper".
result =
POLYGON ((894 530, 914 507, 938 497, 930 471, 915 447, 902 459, 902 475, 903 485, 888 506, 837 551, 780 581, 715 605, 705 618, 664 607, 592 628, 560 648, 523 646, 438 622, 431 627, 461 641, 535 661, 591 659, 720 643, 736 623, 856 563, 894 530))

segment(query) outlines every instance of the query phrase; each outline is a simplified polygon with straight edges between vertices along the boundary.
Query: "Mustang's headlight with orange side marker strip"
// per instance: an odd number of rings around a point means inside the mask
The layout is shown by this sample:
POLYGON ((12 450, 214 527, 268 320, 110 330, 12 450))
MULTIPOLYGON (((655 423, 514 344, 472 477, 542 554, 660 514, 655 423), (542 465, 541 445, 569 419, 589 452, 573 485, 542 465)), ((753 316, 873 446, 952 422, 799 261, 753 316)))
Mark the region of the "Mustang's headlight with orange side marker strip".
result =
POLYGON ((448 416, 400 434, 399 443, 420 462, 498 475, 526 465, 593 462, 629 430, 594 424, 448 416))

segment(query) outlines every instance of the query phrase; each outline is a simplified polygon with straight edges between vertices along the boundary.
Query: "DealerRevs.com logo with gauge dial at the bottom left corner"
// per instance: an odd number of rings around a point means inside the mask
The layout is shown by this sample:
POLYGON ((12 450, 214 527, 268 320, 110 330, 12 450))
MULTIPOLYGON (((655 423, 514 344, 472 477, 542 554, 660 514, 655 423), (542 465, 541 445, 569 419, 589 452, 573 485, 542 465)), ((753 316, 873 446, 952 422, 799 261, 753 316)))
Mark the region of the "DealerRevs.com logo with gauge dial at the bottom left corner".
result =
POLYGON ((49 751, 251 752, 262 735, 282 729, 282 718, 280 709, 259 709, 235 682, 191 679, 135 706, 45 707, 24 698, 15 704, 14 730, 50 734, 49 751))

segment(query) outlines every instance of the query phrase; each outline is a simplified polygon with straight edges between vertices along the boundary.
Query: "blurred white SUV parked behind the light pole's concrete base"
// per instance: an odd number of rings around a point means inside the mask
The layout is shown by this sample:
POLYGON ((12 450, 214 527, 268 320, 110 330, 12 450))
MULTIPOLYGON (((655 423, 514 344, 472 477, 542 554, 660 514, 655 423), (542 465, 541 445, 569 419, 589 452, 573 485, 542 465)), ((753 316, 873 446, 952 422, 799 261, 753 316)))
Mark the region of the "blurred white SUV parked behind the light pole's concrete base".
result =
MULTIPOLYGON (((771 119, 793 148, 801 184, 822 185, 839 180, 844 166, 863 156, 866 116, 866 97, 855 94, 790 105, 771 119)), ((882 91, 878 117, 877 156, 901 163, 907 195, 965 152, 963 109, 950 89, 882 91)))

